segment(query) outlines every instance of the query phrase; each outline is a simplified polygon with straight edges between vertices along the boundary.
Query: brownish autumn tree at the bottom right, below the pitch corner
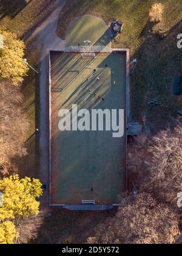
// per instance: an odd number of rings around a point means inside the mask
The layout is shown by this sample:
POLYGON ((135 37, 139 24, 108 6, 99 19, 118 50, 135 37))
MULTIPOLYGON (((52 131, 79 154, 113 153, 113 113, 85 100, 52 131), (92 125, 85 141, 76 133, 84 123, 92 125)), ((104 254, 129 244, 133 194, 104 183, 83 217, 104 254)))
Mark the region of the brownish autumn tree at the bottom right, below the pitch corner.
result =
POLYGON ((87 243, 172 244, 179 235, 179 216, 167 204, 158 204, 149 194, 129 197, 116 216, 96 226, 87 243))

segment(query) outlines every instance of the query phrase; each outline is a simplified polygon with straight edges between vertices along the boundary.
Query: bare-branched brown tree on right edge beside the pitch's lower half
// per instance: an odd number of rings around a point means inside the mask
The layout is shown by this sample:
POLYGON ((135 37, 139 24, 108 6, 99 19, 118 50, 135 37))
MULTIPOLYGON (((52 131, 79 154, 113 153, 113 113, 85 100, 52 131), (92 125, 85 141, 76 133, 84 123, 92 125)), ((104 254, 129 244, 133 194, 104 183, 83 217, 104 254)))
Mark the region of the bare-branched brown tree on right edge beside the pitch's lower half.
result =
POLYGON ((174 203, 182 191, 182 118, 155 136, 135 139, 129 149, 129 171, 138 190, 174 203))

